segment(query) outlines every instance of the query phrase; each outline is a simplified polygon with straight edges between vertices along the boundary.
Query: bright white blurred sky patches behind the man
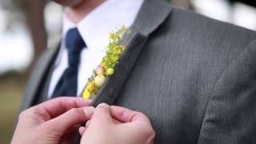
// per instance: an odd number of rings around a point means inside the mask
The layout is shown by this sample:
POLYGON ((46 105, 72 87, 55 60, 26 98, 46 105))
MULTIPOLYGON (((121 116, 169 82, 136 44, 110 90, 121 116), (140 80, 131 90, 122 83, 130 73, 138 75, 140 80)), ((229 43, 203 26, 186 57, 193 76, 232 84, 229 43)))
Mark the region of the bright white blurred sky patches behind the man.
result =
MULTIPOLYGON (((224 22, 231 22, 256 30, 256 9, 241 3, 231 7, 225 0, 193 0, 198 13, 224 22)), ((0 74, 8 70, 25 70, 33 57, 32 42, 26 26, 15 23, 8 27, 10 11, 0 8, 0 74)), ((46 6, 46 30, 50 39, 58 35, 62 25, 62 7, 50 2, 46 6)))

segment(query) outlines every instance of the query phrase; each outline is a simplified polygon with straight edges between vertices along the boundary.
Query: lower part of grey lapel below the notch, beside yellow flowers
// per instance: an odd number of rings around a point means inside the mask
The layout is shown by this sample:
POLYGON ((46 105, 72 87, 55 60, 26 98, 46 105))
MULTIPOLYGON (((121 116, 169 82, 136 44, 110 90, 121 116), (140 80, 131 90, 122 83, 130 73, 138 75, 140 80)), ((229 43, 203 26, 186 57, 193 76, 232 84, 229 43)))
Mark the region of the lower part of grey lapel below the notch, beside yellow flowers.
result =
POLYGON ((126 50, 114 68, 114 75, 108 78, 106 84, 102 86, 102 90, 95 96, 92 106, 98 106, 102 102, 106 102, 109 105, 114 104, 137 62, 146 39, 146 36, 139 33, 131 34, 124 39, 122 44, 126 46, 126 50))

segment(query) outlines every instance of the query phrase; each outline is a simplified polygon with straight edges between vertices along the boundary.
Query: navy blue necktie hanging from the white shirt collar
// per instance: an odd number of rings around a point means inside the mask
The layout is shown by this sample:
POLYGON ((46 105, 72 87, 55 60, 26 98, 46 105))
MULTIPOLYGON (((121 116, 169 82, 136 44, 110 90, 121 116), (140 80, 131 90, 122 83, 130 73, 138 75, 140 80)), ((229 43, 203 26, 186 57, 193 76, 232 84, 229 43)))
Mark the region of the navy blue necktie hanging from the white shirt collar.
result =
POLYGON ((66 34, 69 67, 64 71, 62 77, 58 81, 52 98, 77 95, 78 66, 83 47, 86 47, 86 43, 82 40, 82 36, 79 34, 78 29, 70 29, 66 34))

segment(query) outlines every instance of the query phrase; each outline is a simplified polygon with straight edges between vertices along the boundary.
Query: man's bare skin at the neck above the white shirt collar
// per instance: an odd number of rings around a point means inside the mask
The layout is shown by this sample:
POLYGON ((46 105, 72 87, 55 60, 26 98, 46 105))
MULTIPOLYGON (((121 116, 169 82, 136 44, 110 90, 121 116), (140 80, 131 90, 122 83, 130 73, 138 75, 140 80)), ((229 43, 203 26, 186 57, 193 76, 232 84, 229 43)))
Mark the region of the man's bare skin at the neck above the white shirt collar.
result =
POLYGON ((105 1, 106 0, 84 0, 78 4, 78 6, 67 6, 64 12, 72 22, 78 24, 87 14, 105 1))

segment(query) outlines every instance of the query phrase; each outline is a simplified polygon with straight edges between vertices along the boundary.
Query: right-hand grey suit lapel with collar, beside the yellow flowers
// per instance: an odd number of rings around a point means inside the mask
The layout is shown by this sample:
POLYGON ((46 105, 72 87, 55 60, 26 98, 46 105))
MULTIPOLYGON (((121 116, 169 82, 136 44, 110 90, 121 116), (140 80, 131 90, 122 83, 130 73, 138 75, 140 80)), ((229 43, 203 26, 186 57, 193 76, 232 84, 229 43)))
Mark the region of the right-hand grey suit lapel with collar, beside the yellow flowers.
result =
POLYGON ((170 14, 169 2, 159 0, 145 0, 138 13, 134 25, 130 27, 131 34, 127 34, 122 41, 126 50, 115 66, 115 73, 108 78, 102 90, 98 92, 92 102, 93 106, 106 102, 110 105, 118 99, 130 72, 133 70, 147 38, 165 21, 170 14))

